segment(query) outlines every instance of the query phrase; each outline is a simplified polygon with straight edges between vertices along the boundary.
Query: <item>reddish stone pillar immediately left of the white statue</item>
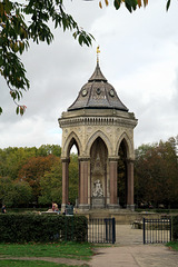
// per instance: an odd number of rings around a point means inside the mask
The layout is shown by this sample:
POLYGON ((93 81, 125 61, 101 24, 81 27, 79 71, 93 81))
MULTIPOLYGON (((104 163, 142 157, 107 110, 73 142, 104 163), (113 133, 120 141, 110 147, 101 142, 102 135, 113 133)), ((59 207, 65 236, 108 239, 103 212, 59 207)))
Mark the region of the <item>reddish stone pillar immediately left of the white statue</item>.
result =
POLYGON ((89 209, 88 204, 88 171, 89 171, 89 159, 88 158, 79 158, 79 209, 89 209))

